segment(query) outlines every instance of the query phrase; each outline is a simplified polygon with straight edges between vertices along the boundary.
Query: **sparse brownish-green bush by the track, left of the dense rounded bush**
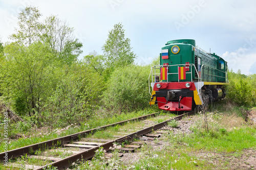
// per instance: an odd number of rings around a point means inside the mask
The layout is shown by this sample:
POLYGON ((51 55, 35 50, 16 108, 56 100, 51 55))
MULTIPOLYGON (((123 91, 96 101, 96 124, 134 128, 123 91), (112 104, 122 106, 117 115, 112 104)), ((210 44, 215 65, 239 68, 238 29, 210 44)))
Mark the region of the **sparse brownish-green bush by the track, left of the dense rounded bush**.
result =
POLYGON ((77 123, 80 113, 84 113, 82 105, 85 102, 80 100, 80 89, 81 85, 71 80, 62 80, 57 85, 52 96, 48 98, 45 112, 42 113, 42 117, 48 119, 46 122, 48 126, 64 127, 67 123, 70 125, 77 123))

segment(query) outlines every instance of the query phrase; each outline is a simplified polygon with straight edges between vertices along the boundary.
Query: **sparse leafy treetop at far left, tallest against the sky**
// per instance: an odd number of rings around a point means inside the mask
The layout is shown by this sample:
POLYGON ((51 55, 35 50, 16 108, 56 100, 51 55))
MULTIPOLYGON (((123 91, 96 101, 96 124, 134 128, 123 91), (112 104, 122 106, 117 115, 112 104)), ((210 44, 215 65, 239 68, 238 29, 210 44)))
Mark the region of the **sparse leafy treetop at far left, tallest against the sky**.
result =
POLYGON ((35 7, 26 7, 18 14, 18 29, 15 28, 16 34, 10 36, 19 44, 29 46, 39 39, 39 21, 41 14, 35 7))

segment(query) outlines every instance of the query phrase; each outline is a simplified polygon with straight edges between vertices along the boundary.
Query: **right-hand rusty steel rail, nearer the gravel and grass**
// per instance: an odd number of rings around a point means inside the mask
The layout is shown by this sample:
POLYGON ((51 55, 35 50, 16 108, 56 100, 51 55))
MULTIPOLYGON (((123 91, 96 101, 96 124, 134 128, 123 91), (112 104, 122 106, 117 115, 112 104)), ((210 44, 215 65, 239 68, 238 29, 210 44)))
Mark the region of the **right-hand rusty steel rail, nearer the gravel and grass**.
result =
MULTIPOLYGON (((187 113, 184 113, 182 115, 179 115, 177 117, 174 117, 174 118, 171 118, 171 119, 168 119, 168 120, 165 120, 164 122, 161 122, 159 124, 156 124, 156 125, 153 125, 151 127, 147 127, 145 129, 142 129, 140 131, 137 131, 137 132, 134 132, 134 133, 131 133, 129 135, 126 135, 126 136, 123 136, 123 137, 120 137, 118 139, 115 139, 115 140, 112 140, 112 141, 109 141, 109 142, 106 142, 104 144, 101 144, 101 145, 98 145, 97 147, 95 148, 91 148, 87 151, 83 151, 79 154, 75 154, 75 155, 72 155, 72 156, 69 156, 67 158, 64 158, 62 160, 59 160, 59 161, 56 161, 56 162, 53 162, 49 165, 52 165, 52 166, 57 166, 58 169, 65 169, 65 168, 68 168, 70 166, 72 166, 72 163, 73 162, 77 162, 77 161, 81 161, 81 160, 87 160, 87 159, 90 159, 94 156, 95 154, 95 151, 98 150, 100 147, 102 147, 105 151, 109 151, 110 150, 110 147, 113 147, 113 143, 115 142, 118 142, 118 143, 121 143, 123 142, 124 140, 132 140, 134 138, 137 138, 138 136, 140 135, 143 135, 143 134, 146 134, 146 133, 150 133, 156 129, 159 129, 163 126, 165 126, 170 120, 174 120, 174 119, 182 119, 184 116, 189 116, 191 114, 193 114, 194 112, 191 111, 191 112, 187 112, 187 113)), ((41 168, 38 168, 37 170, 41 170, 43 167, 41 168)))

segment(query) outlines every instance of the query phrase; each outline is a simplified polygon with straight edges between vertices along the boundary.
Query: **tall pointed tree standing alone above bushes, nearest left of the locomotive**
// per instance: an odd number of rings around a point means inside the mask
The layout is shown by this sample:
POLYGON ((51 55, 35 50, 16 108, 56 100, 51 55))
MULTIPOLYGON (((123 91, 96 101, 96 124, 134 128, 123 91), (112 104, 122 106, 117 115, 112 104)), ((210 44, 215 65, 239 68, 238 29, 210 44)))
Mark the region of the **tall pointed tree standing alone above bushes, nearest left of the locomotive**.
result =
POLYGON ((124 38, 124 29, 121 23, 114 25, 109 32, 108 39, 102 47, 105 65, 109 68, 134 63, 136 54, 132 52, 129 38, 124 38))

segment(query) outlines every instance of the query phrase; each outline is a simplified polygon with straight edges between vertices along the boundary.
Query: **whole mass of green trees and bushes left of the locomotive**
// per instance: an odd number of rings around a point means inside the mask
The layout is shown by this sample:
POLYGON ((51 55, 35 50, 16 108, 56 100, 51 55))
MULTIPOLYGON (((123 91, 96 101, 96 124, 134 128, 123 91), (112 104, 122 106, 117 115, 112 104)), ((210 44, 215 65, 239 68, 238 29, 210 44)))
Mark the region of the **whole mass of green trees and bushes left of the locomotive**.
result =
POLYGON ((54 15, 40 17, 36 7, 26 7, 10 36, 15 42, 0 42, 0 95, 24 120, 12 125, 20 127, 10 133, 14 138, 34 127, 80 125, 106 108, 121 113, 148 106, 148 67, 132 65, 136 55, 121 23, 109 32, 104 55, 78 61, 82 43, 74 28, 54 15))

